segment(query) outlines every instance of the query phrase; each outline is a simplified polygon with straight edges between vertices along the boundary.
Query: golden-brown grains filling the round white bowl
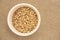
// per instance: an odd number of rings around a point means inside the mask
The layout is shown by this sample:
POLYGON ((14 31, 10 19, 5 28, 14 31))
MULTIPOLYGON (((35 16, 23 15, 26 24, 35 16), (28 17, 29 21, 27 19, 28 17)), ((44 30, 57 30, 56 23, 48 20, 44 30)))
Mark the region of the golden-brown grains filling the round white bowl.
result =
POLYGON ((29 7, 18 8, 12 16, 12 24, 21 33, 31 32, 37 25, 36 12, 29 7))

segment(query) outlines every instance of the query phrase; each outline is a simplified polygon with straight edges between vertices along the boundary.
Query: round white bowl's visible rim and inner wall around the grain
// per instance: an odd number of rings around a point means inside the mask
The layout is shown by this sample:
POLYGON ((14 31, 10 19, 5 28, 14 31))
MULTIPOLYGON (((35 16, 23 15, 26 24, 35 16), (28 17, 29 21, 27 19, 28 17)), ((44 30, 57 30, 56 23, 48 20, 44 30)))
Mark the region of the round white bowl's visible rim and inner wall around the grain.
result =
POLYGON ((19 36, 29 36, 29 35, 32 35, 33 33, 35 33, 37 31, 37 29, 39 28, 40 26, 40 21, 41 21, 41 18, 40 18, 40 13, 39 11, 34 7, 32 6, 31 4, 27 4, 27 3, 21 3, 21 4, 17 4, 15 6, 13 6, 11 8, 11 10, 9 11, 8 13, 8 17, 7 17, 7 23, 8 23, 8 26, 9 28, 11 29, 11 31, 19 36), (32 30, 31 32, 29 33, 21 33, 21 32, 18 32, 14 27, 13 27, 13 24, 12 24, 12 16, 13 16, 13 13, 20 7, 23 7, 23 6, 27 6, 27 7, 30 7, 32 8, 36 14, 37 14, 37 17, 38 17, 38 23, 37 23, 37 26, 34 30, 32 30))

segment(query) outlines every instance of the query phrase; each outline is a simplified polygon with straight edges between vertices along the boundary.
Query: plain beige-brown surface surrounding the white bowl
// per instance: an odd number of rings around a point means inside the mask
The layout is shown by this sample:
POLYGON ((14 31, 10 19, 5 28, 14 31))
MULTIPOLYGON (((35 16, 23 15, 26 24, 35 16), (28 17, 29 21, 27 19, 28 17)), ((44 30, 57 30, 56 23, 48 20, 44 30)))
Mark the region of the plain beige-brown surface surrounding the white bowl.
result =
POLYGON ((60 40, 60 0, 0 0, 0 40, 60 40), (41 14, 40 28, 28 37, 15 35, 7 25, 9 10, 22 2, 34 5, 41 14))

